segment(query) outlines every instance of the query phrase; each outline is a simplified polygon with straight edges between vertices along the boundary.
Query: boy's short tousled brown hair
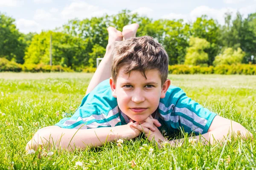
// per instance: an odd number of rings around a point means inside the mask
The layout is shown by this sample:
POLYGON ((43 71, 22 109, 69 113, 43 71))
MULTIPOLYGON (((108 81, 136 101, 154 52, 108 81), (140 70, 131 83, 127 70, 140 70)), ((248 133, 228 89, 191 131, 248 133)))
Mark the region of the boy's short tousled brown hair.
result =
POLYGON ((116 42, 112 52, 112 78, 116 82, 119 68, 126 66, 124 72, 132 70, 145 71, 157 69, 160 72, 162 85, 168 76, 169 57, 163 46, 153 37, 143 36, 116 42))

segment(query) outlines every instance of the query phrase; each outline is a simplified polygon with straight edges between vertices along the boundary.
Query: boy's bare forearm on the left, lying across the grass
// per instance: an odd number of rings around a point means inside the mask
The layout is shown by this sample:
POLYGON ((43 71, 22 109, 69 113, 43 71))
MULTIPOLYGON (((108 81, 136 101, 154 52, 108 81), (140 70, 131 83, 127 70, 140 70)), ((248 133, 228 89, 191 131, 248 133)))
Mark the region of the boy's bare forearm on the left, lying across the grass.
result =
POLYGON ((132 122, 127 125, 116 127, 100 127, 94 129, 65 129, 58 126, 44 127, 38 130, 33 138, 26 145, 26 150, 37 149, 38 144, 42 143, 45 147, 83 149, 87 146, 102 146, 102 144, 115 139, 134 139, 139 136, 140 131, 131 127, 132 122))

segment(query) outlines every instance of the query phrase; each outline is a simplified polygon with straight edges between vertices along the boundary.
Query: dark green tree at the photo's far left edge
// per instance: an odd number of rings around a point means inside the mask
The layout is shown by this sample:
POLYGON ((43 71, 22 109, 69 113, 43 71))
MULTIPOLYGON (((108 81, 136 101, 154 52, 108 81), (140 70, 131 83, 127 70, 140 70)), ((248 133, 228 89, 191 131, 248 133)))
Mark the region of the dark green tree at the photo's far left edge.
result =
POLYGON ((26 43, 14 22, 12 17, 0 13, 0 57, 23 63, 26 43))

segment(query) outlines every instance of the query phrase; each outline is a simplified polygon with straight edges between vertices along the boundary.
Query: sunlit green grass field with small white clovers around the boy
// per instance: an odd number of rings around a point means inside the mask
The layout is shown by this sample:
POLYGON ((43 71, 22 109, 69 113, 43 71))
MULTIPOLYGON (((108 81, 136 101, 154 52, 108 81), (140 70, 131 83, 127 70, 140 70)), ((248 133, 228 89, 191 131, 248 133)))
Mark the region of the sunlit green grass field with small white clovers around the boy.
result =
MULTIPOLYGON (((200 142, 191 146, 186 140, 181 147, 158 149, 139 137, 122 147, 110 142, 73 153, 51 150, 52 156, 41 158, 38 152, 26 154, 26 143, 38 129, 54 125, 64 113, 74 113, 91 77, 0 73, 0 169, 256 169, 256 142, 241 139, 224 146, 200 142)), ((209 110, 241 123, 256 139, 256 76, 169 75, 169 79, 209 110)))

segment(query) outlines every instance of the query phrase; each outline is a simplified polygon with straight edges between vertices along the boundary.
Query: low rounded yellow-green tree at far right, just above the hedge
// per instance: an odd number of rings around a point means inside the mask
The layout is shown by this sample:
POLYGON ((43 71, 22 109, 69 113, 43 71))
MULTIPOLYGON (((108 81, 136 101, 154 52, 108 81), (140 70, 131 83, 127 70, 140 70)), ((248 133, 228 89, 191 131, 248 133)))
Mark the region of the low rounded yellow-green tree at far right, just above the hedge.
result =
POLYGON ((239 64, 242 62, 245 56, 245 52, 242 51, 241 48, 237 48, 237 50, 233 50, 233 48, 227 48, 224 50, 222 54, 219 54, 215 57, 213 62, 214 65, 231 65, 231 64, 239 64))

